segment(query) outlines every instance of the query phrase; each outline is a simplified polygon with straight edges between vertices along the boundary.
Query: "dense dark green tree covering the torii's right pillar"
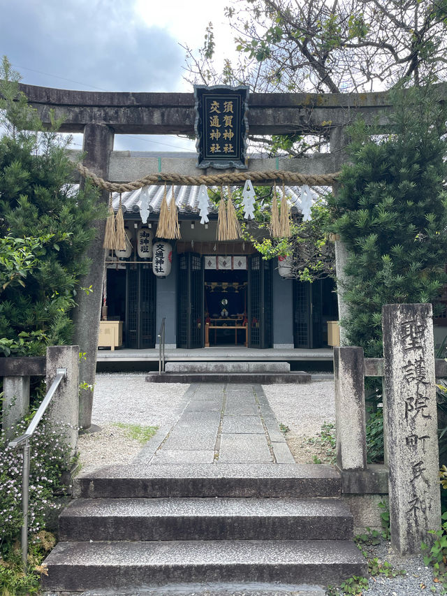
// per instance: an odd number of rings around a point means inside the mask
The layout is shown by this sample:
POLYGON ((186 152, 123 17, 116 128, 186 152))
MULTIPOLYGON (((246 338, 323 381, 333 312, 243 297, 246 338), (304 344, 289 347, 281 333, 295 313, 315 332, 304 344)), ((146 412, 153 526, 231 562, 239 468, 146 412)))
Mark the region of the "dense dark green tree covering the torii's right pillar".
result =
POLYGON ((346 337, 372 357, 382 355, 382 305, 433 303, 446 282, 446 110, 429 87, 393 99, 392 134, 351 129, 353 163, 330 199, 351 255, 346 337))

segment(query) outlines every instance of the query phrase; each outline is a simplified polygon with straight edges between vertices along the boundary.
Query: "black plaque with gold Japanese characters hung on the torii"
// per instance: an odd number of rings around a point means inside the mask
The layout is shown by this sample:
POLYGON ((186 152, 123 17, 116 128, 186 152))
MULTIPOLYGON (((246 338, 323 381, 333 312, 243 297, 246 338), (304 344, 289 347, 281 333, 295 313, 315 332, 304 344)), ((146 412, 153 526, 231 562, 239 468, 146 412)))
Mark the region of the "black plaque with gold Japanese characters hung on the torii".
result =
POLYGON ((249 87, 194 85, 198 168, 247 169, 249 87))

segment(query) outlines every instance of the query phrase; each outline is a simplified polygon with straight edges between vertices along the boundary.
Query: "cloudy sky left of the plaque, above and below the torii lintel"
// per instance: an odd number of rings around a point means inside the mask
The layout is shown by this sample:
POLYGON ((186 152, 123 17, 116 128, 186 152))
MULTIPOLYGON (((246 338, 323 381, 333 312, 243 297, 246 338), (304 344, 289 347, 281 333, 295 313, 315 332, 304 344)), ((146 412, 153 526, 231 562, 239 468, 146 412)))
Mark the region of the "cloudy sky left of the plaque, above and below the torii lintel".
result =
MULTIPOLYGON (((0 54, 29 85, 102 91, 191 92, 184 50, 203 45, 208 22, 217 45, 233 46, 228 0, 0 0, 0 54)), ((80 144, 79 136, 74 143, 80 144)), ((115 136, 115 149, 175 151, 177 137, 115 136)))

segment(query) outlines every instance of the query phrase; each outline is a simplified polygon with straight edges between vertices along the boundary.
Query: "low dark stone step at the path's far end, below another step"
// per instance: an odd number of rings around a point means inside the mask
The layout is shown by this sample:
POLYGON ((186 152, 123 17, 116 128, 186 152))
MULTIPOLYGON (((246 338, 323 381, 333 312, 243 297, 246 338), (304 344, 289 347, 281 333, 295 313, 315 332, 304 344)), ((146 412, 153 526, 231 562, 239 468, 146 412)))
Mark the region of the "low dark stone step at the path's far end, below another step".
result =
POLYGON ((302 370, 293 372, 149 372, 148 383, 310 383, 312 376, 302 370))

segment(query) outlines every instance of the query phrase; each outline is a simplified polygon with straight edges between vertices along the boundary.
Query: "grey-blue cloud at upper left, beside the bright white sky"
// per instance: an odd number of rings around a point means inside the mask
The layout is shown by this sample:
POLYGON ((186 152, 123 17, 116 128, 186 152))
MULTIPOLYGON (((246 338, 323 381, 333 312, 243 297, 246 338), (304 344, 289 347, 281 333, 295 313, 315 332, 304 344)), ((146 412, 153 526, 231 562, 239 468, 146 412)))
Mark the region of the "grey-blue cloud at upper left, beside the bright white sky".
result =
POLYGON ((108 91, 179 87, 177 41, 161 26, 145 24, 129 1, 0 0, 0 10, 1 52, 24 82, 108 91))

